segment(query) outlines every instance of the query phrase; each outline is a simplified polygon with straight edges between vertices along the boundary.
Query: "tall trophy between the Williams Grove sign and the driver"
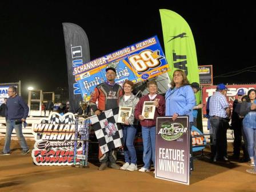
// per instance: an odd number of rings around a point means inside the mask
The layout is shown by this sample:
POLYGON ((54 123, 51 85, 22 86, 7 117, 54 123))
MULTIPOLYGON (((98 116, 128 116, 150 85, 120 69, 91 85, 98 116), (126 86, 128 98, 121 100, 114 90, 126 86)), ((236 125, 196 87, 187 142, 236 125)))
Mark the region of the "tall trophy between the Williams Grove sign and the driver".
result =
POLYGON ((75 139, 74 139, 74 167, 85 168, 88 166, 88 149, 89 149, 89 123, 90 119, 86 118, 90 113, 90 105, 88 101, 84 98, 83 101, 79 102, 79 106, 82 109, 82 115, 75 114, 75 139), (85 113, 86 111, 86 113, 85 113), (78 130, 79 117, 83 117, 83 126, 78 130), (79 134, 79 138, 78 138, 79 134), (82 143, 82 154, 77 154, 77 143, 81 141, 82 143), (77 163, 79 159, 80 163, 77 163))

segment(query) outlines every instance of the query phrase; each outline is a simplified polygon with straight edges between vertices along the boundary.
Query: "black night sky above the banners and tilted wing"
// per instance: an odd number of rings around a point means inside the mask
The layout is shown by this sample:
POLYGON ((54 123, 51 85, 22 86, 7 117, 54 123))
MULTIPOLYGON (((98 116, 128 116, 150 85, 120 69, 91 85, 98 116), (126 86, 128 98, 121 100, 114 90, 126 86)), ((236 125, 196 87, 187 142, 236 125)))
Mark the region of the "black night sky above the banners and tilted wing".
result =
POLYGON ((0 82, 21 80, 22 91, 28 86, 43 91, 68 87, 63 22, 85 30, 92 60, 154 35, 164 50, 159 9, 175 11, 189 23, 198 65, 213 65, 214 76, 254 66, 234 77, 214 78, 215 84, 256 82, 256 11, 251 5, 215 1, 198 5, 184 1, 122 1, 125 5, 120 5, 121 1, 94 5, 86 5, 87 1, 36 2, 0 3, 0 82))

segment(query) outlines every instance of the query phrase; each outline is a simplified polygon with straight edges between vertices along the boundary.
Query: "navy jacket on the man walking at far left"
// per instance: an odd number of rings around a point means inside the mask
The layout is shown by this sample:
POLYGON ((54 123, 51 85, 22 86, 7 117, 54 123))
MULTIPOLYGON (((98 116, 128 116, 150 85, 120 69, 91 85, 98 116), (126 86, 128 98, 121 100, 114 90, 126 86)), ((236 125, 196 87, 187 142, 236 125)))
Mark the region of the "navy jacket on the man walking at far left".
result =
POLYGON ((6 102, 5 118, 9 120, 13 119, 26 119, 29 114, 29 107, 23 101, 22 97, 16 95, 10 97, 6 102))

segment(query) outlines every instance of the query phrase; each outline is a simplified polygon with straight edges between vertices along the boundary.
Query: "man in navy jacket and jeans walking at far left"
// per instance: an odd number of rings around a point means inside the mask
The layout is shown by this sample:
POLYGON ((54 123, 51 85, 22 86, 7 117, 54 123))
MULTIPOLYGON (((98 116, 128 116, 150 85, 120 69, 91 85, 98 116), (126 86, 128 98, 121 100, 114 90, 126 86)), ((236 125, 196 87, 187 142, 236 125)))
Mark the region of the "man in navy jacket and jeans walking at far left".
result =
POLYGON ((11 133, 13 129, 16 131, 16 135, 23 150, 23 155, 29 153, 29 147, 27 146, 26 139, 22 134, 22 123, 26 121, 29 114, 29 107, 23 101, 23 99, 17 95, 17 88, 14 86, 9 87, 8 96, 6 102, 6 134, 5 134, 5 146, 3 147, 2 155, 10 155, 10 143, 11 133))

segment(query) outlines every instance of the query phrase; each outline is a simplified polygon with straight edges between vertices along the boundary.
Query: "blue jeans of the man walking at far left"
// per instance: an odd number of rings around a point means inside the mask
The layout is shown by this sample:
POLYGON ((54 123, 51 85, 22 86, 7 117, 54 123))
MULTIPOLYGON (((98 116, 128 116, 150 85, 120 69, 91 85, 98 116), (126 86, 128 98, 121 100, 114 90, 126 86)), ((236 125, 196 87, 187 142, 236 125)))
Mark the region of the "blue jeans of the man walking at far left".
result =
POLYGON ((16 135, 19 140, 19 145, 22 147, 22 150, 26 151, 29 149, 29 147, 27 146, 26 139, 22 134, 22 123, 15 125, 15 120, 7 120, 6 121, 5 146, 3 147, 3 153, 10 152, 11 133, 13 133, 13 129, 15 129, 15 131, 16 131, 16 135))

